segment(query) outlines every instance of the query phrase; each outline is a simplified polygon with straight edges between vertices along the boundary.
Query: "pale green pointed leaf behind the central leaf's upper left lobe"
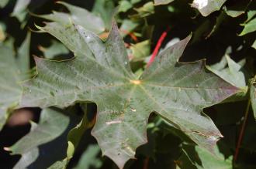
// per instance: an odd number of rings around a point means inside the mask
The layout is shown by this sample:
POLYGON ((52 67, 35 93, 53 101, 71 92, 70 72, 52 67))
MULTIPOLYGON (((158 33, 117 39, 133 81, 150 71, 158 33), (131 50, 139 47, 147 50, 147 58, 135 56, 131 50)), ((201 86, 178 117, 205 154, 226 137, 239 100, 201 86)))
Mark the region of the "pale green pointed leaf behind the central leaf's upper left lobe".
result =
POLYGON ((43 19, 48 19, 50 21, 59 22, 64 26, 69 26, 72 24, 78 24, 84 28, 91 30, 95 33, 104 32, 106 26, 98 15, 88 12, 85 8, 80 8, 78 6, 67 4, 66 2, 58 2, 64 5, 70 13, 64 12, 53 12, 48 15, 36 15, 43 19))

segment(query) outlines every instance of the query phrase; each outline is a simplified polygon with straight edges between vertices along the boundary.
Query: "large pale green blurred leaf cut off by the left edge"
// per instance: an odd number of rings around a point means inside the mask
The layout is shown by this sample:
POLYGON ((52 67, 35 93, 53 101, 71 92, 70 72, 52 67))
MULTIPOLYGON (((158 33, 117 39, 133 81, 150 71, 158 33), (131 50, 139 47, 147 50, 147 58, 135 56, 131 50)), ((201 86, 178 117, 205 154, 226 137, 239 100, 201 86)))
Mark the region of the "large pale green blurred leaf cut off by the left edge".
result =
POLYGON ((14 51, 0 45, 0 130, 20 101, 22 88, 19 83, 26 79, 29 70, 30 34, 18 49, 17 58, 14 51))

